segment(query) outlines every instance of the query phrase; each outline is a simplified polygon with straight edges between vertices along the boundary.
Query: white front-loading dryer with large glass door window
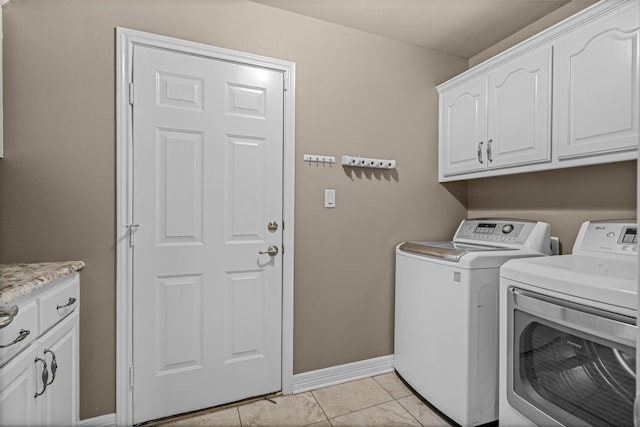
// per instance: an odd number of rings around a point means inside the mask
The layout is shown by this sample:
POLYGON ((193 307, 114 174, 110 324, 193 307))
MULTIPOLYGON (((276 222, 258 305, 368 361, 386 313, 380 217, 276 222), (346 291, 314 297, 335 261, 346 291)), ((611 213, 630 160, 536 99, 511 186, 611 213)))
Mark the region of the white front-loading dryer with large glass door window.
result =
POLYGON ((582 224, 571 255, 500 271, 500 425, 632 426, 635 222, 582 224))

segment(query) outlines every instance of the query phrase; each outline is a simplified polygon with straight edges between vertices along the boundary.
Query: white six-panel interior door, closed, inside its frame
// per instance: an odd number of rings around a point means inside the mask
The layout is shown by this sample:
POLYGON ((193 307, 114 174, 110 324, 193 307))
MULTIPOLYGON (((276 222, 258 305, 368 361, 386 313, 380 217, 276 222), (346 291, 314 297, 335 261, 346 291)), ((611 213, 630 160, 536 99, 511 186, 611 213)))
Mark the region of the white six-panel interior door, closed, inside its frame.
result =
POLYGON ((284 87, 151 47, 133 64, 138 423, 281 388, 284 87))

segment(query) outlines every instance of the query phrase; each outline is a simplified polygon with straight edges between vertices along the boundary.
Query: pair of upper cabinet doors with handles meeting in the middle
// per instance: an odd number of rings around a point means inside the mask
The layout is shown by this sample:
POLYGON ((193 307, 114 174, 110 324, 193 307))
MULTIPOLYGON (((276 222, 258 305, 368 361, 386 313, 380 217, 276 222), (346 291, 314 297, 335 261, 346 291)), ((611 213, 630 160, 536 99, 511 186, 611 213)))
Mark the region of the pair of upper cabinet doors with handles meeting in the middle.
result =
POLYGON ((441 92, 441 178, 551 159, 551 48, 441 92))

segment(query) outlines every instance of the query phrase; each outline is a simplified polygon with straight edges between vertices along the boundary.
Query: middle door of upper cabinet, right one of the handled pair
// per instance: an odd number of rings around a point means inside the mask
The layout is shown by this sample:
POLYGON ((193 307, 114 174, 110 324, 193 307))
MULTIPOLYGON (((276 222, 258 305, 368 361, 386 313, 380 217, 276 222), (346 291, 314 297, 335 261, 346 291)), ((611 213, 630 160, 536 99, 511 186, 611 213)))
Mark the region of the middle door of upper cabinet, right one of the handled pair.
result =
POLYGON ((551 47, 499 66, 488 86, 488 167, 550 161, 551 47))

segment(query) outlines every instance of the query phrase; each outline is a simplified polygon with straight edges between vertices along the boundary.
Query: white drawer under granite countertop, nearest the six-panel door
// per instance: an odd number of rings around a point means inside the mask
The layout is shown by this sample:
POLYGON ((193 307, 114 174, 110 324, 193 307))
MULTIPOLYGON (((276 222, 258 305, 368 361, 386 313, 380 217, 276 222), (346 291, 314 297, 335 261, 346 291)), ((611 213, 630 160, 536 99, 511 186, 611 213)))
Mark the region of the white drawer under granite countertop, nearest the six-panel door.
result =
POLYGON ((41 334, 79 307, 79 277, 78 273, 65 277, 60 284, 38 298, 41 334))

